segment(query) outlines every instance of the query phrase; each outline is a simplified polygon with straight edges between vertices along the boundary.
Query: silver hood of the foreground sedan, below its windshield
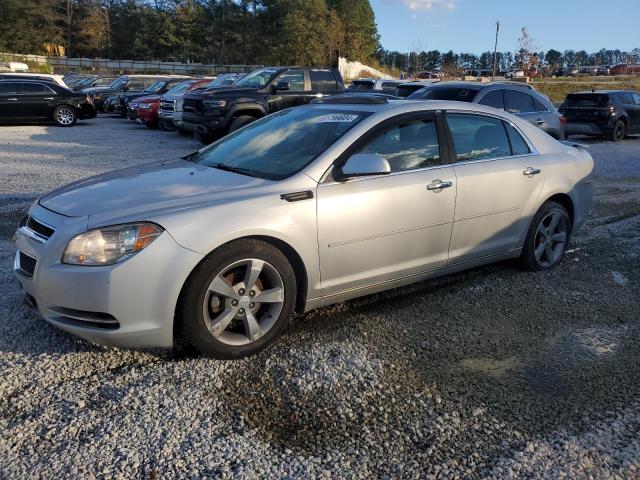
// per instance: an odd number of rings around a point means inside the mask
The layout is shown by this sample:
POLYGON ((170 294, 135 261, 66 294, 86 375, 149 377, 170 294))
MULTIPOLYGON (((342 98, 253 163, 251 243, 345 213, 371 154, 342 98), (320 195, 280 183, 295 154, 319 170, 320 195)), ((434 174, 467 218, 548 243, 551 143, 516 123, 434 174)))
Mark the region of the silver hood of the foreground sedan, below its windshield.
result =
POLYGON ((162 211, 246 196, 248 189, 267 183, 272 182, 176 160, 80 180, 44 195, 39 203, 69 217, 151 218, 162 211))

